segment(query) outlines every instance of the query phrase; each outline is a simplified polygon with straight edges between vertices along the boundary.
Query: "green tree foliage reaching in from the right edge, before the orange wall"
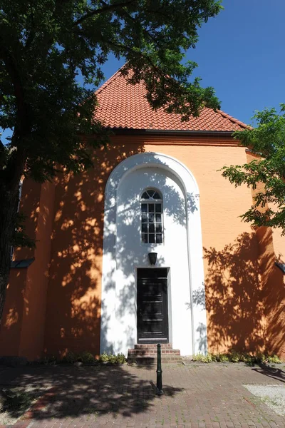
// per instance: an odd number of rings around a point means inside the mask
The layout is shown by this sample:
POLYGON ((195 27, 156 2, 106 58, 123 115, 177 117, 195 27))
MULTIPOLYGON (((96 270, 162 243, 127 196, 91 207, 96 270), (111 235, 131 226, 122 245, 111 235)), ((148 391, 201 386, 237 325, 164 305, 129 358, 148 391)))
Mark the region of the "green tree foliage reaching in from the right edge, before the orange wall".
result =
POLYGON ((236 187, 246 184, 262 189, 254 196, 254 204, 242 218, 256 226, 281 228, 285 235, 285 104, 281 111, 275 108, 258 111, 254 115, 255 128, 237 131, 234 137, 243 146, 257 154, 257 158, 244 165, 222 168, 222 175, 236 187))

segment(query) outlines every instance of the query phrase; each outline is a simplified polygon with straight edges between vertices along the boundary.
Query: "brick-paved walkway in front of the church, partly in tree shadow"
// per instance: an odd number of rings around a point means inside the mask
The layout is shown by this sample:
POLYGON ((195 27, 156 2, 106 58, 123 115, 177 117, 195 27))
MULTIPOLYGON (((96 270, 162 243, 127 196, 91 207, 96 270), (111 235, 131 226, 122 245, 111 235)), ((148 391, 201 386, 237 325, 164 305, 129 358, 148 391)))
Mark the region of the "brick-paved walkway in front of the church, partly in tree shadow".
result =
POLYGON ((52 387, 16 428, 285 427, 243 384, 279 384, 283 370, 244 365, 165 366, 165 394, 155 395, 155 368, 36 367, 6 370, 0 383, 52 387))

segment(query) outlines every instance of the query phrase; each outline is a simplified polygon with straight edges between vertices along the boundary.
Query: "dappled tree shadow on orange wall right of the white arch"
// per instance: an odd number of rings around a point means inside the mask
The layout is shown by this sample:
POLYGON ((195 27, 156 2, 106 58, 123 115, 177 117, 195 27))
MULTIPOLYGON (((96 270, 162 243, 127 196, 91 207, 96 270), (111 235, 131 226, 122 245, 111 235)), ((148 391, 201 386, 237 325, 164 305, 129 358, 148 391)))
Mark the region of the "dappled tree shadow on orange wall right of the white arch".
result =
MULTIPOLYGON (((281 332, 285 331, 284 318, 280 317, 285 297, 283 275, 274 265, 271 232, 262 234, 267 249, 263 253, 260 239, 258 231, 242 233, 220 251, 204 248, 208 344, 212 352, 233 348, 281 354, 281 332)), ((194 298, 199 300, 199 293, 194 298)))

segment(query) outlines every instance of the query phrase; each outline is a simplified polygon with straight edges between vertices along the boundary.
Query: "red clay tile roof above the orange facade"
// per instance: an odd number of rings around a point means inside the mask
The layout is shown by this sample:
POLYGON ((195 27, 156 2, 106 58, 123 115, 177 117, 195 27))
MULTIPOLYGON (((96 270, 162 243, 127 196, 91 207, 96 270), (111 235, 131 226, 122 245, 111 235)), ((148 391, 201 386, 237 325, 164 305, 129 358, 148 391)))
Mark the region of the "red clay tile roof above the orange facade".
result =
POLYGON ((198 118, 182 122, 180 115, 153 111, 145 98, 144 84, 130 85, 118 70, 96 92, 99 106, 95 116, 110 128, 163 131, 242 131, 245 123, 223 111, 204 108, 198 118))

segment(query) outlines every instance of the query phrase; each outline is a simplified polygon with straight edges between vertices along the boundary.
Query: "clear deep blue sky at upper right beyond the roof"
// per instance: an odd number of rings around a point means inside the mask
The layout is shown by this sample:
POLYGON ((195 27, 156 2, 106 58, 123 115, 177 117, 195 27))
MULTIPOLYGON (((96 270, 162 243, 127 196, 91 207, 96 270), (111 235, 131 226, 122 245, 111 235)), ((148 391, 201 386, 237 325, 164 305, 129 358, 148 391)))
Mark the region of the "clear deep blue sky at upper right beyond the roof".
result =
MULTIPOLYGON (((285 1, 224 0, 223 6, 199 29, 187 59, 198 63, 195 76, 215 88, 222 110, 252 123, 255 110, 285 102, 285 1)), ((123 63, 110 57, 105 79, 123 63)))

